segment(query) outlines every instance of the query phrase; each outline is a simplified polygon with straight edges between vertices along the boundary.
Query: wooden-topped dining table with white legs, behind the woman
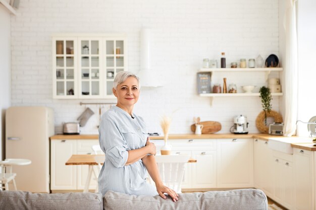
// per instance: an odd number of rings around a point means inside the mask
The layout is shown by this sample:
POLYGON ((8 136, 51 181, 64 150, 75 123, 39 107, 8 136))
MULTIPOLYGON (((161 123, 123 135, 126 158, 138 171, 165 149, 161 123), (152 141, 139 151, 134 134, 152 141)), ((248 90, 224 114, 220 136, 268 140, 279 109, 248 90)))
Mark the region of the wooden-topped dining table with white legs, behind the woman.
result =
MULTIPOLYGON (((98 162, 104 162, 105 156, 103 155, 72 155, 69 160, 66 162, 66 165, 88 165, 88 176, 86 179, 86 183, 83 189, 83 192, 89 191, 89 185, 91 181, 92 174, 94 177, 98 178, 98 174, 95 173, 93 166, 98 165, 98 163, 95 160, 98 160, 98 162)), ((188 163, 196 163, 195 159, 190 158, 188 163)))

